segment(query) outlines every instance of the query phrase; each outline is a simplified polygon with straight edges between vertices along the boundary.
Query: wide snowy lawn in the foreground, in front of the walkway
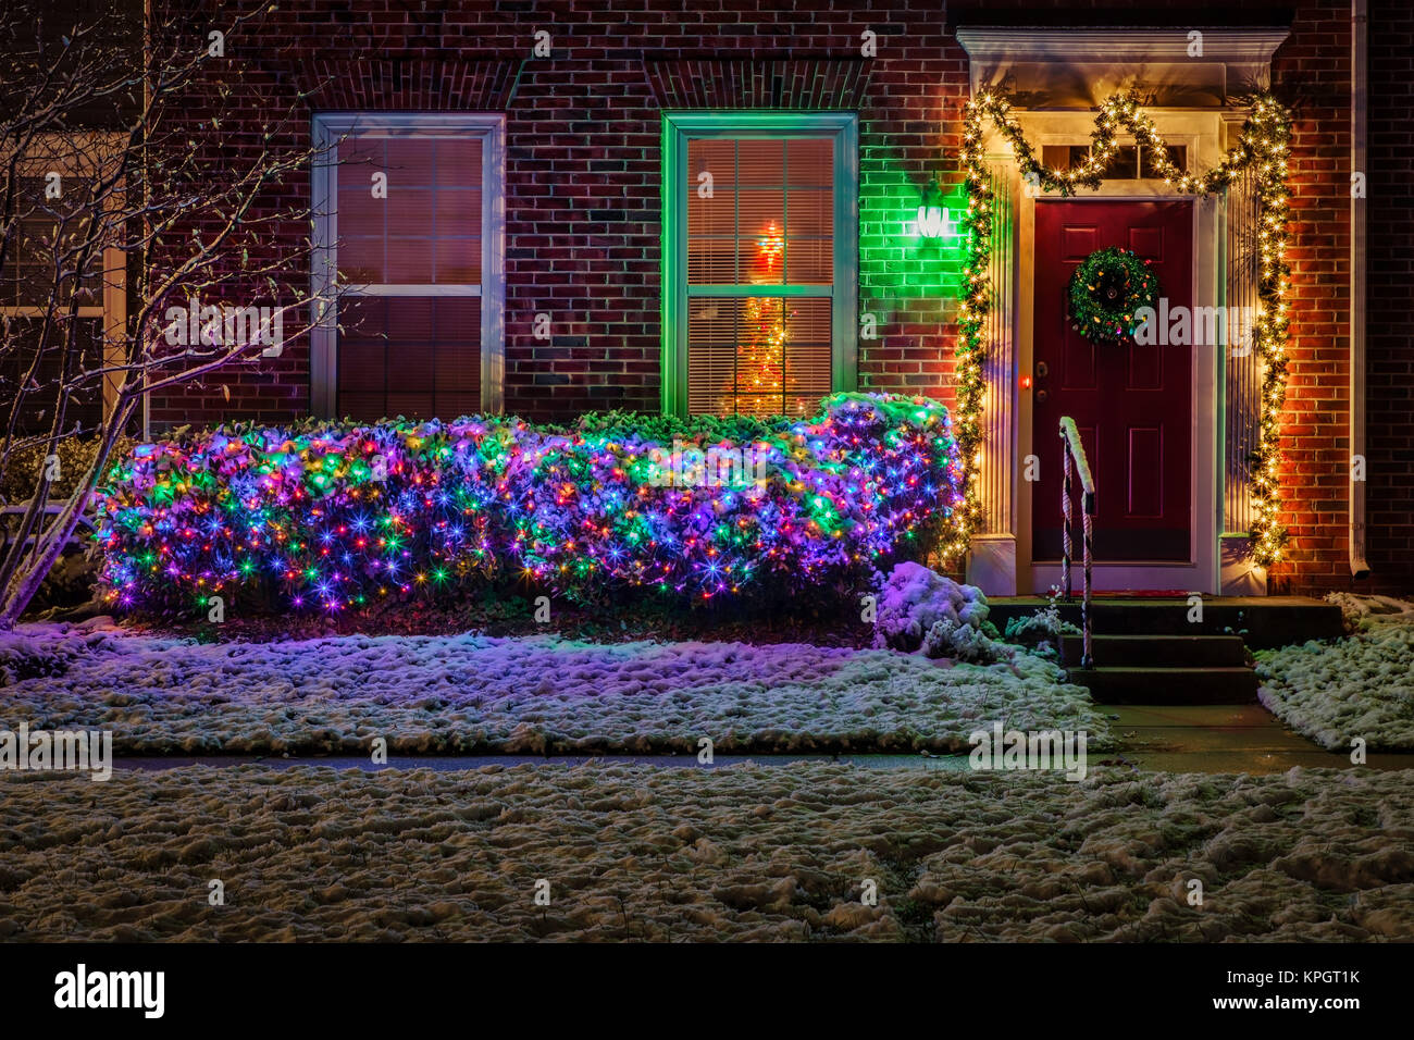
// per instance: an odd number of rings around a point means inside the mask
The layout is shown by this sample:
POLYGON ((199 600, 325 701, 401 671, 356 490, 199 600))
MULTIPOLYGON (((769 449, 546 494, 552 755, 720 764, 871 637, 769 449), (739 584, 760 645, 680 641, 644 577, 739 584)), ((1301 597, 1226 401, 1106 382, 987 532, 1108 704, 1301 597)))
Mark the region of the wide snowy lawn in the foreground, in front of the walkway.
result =
POLYGON ((10 773, 0 937, 1408 940, 1411 809, 1414 770, 10 773))

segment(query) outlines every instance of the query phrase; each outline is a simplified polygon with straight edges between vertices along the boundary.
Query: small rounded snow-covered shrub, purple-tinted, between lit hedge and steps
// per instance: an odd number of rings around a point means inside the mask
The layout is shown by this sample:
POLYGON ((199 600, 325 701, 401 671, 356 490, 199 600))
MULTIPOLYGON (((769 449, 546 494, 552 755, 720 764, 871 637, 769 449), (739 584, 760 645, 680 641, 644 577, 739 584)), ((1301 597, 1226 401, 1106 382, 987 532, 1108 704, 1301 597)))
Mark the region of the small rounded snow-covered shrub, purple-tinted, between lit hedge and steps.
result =
POLYGON ((874 645, 957 661, 990 662, 1000 648, 988 635, 987 597, 921 563, 905 560, 880 587, 874 645))

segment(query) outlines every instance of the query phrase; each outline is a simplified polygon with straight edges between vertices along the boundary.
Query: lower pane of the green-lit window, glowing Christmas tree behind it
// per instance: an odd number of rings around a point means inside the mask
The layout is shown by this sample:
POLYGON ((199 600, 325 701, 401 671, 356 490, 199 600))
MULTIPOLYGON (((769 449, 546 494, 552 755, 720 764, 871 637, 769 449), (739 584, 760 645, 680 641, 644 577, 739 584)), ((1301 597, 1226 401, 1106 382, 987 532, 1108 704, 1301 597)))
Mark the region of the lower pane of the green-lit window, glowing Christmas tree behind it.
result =
POLYGON ((830 392, 829 299, 689 301, 693 415, 814 415, 830 392))

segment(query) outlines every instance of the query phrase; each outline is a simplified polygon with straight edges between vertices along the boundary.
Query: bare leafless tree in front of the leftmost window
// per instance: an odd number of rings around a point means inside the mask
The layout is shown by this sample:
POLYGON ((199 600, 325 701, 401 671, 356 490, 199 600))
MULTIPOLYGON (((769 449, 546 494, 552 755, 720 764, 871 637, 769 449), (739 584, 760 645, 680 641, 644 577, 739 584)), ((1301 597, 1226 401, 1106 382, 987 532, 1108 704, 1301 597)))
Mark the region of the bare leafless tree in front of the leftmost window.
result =
POLYGON ((0 501, 0 628, 75 535, 144 393, 219 383, 277 355, 317 303, 305 185, 322 157, 308 102, 239 57, 273 7, 212 24, 163 1, 8 0, 0 13, 0 487, 11 499, 0 501), (76 473, 62 473, 65 449, 76 473))

